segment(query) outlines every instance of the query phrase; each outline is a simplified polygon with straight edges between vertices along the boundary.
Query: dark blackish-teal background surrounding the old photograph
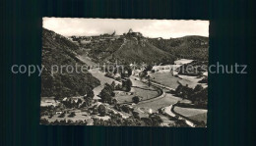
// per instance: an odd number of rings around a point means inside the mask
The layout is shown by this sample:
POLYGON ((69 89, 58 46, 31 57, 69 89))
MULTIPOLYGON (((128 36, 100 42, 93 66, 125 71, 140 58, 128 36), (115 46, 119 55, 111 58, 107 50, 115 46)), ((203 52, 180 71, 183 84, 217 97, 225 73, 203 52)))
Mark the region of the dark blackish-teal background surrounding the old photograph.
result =
POLYGON ((1 1, 1 146, 254 145, 255 27, 252 1, 1 1), (39 125, 42 17, 210 20, 210 65, 246 64, 247 74, 209 74, 207 128, 39 125))

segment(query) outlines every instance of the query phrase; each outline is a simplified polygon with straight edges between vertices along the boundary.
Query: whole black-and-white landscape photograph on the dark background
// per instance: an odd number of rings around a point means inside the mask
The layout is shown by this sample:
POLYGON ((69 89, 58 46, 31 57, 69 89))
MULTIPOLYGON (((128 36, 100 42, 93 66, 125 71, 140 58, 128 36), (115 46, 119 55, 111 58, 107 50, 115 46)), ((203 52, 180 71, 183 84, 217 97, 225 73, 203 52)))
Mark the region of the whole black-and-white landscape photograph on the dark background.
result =
POLYGON ((207 127, 209 21, 42 18, 40 124, 207 127))

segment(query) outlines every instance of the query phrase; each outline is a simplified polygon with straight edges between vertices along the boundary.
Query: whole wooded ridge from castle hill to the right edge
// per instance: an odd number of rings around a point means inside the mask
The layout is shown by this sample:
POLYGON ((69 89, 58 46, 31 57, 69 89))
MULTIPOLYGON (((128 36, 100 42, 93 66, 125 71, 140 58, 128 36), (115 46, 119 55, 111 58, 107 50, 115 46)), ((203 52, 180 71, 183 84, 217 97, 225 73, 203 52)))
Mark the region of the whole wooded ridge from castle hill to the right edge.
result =
MULTIPOLYGON (((75 37, 75 36, 73 36, 75 37)), ((148 38, 140 32, 123 35, 103 34, 73 39, 96 62, 173 64, 177 58, 208 60, 209 39, 203 36, 148 38), (85 43, 85 40, 87 40, 85 43)))

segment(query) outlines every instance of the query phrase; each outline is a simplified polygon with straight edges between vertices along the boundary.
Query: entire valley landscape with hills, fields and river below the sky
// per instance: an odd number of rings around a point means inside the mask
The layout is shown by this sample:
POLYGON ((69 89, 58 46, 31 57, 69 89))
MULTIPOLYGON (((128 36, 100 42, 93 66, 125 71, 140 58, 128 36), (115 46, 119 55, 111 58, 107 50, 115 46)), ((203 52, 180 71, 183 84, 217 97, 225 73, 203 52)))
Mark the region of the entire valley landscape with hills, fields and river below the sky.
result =
POLYGON ((152 39, 132 29, 123 35, 66 38, 44 31, 43 65, 80 63, 90 68, 84 74, 43 74, 41 124, 207 126, 208 84, 200 83, 207 72, 178 70, 208 62, 202 57, 208 38, 152 39), (53 36, 59 40, 50 40, 53 36), (63 53, 56 60, 51 53, 60 47, 63 53), (181 58, 186 47, 193 55, 181 58), (201 53, 196 56, 193 49, 201 53))

